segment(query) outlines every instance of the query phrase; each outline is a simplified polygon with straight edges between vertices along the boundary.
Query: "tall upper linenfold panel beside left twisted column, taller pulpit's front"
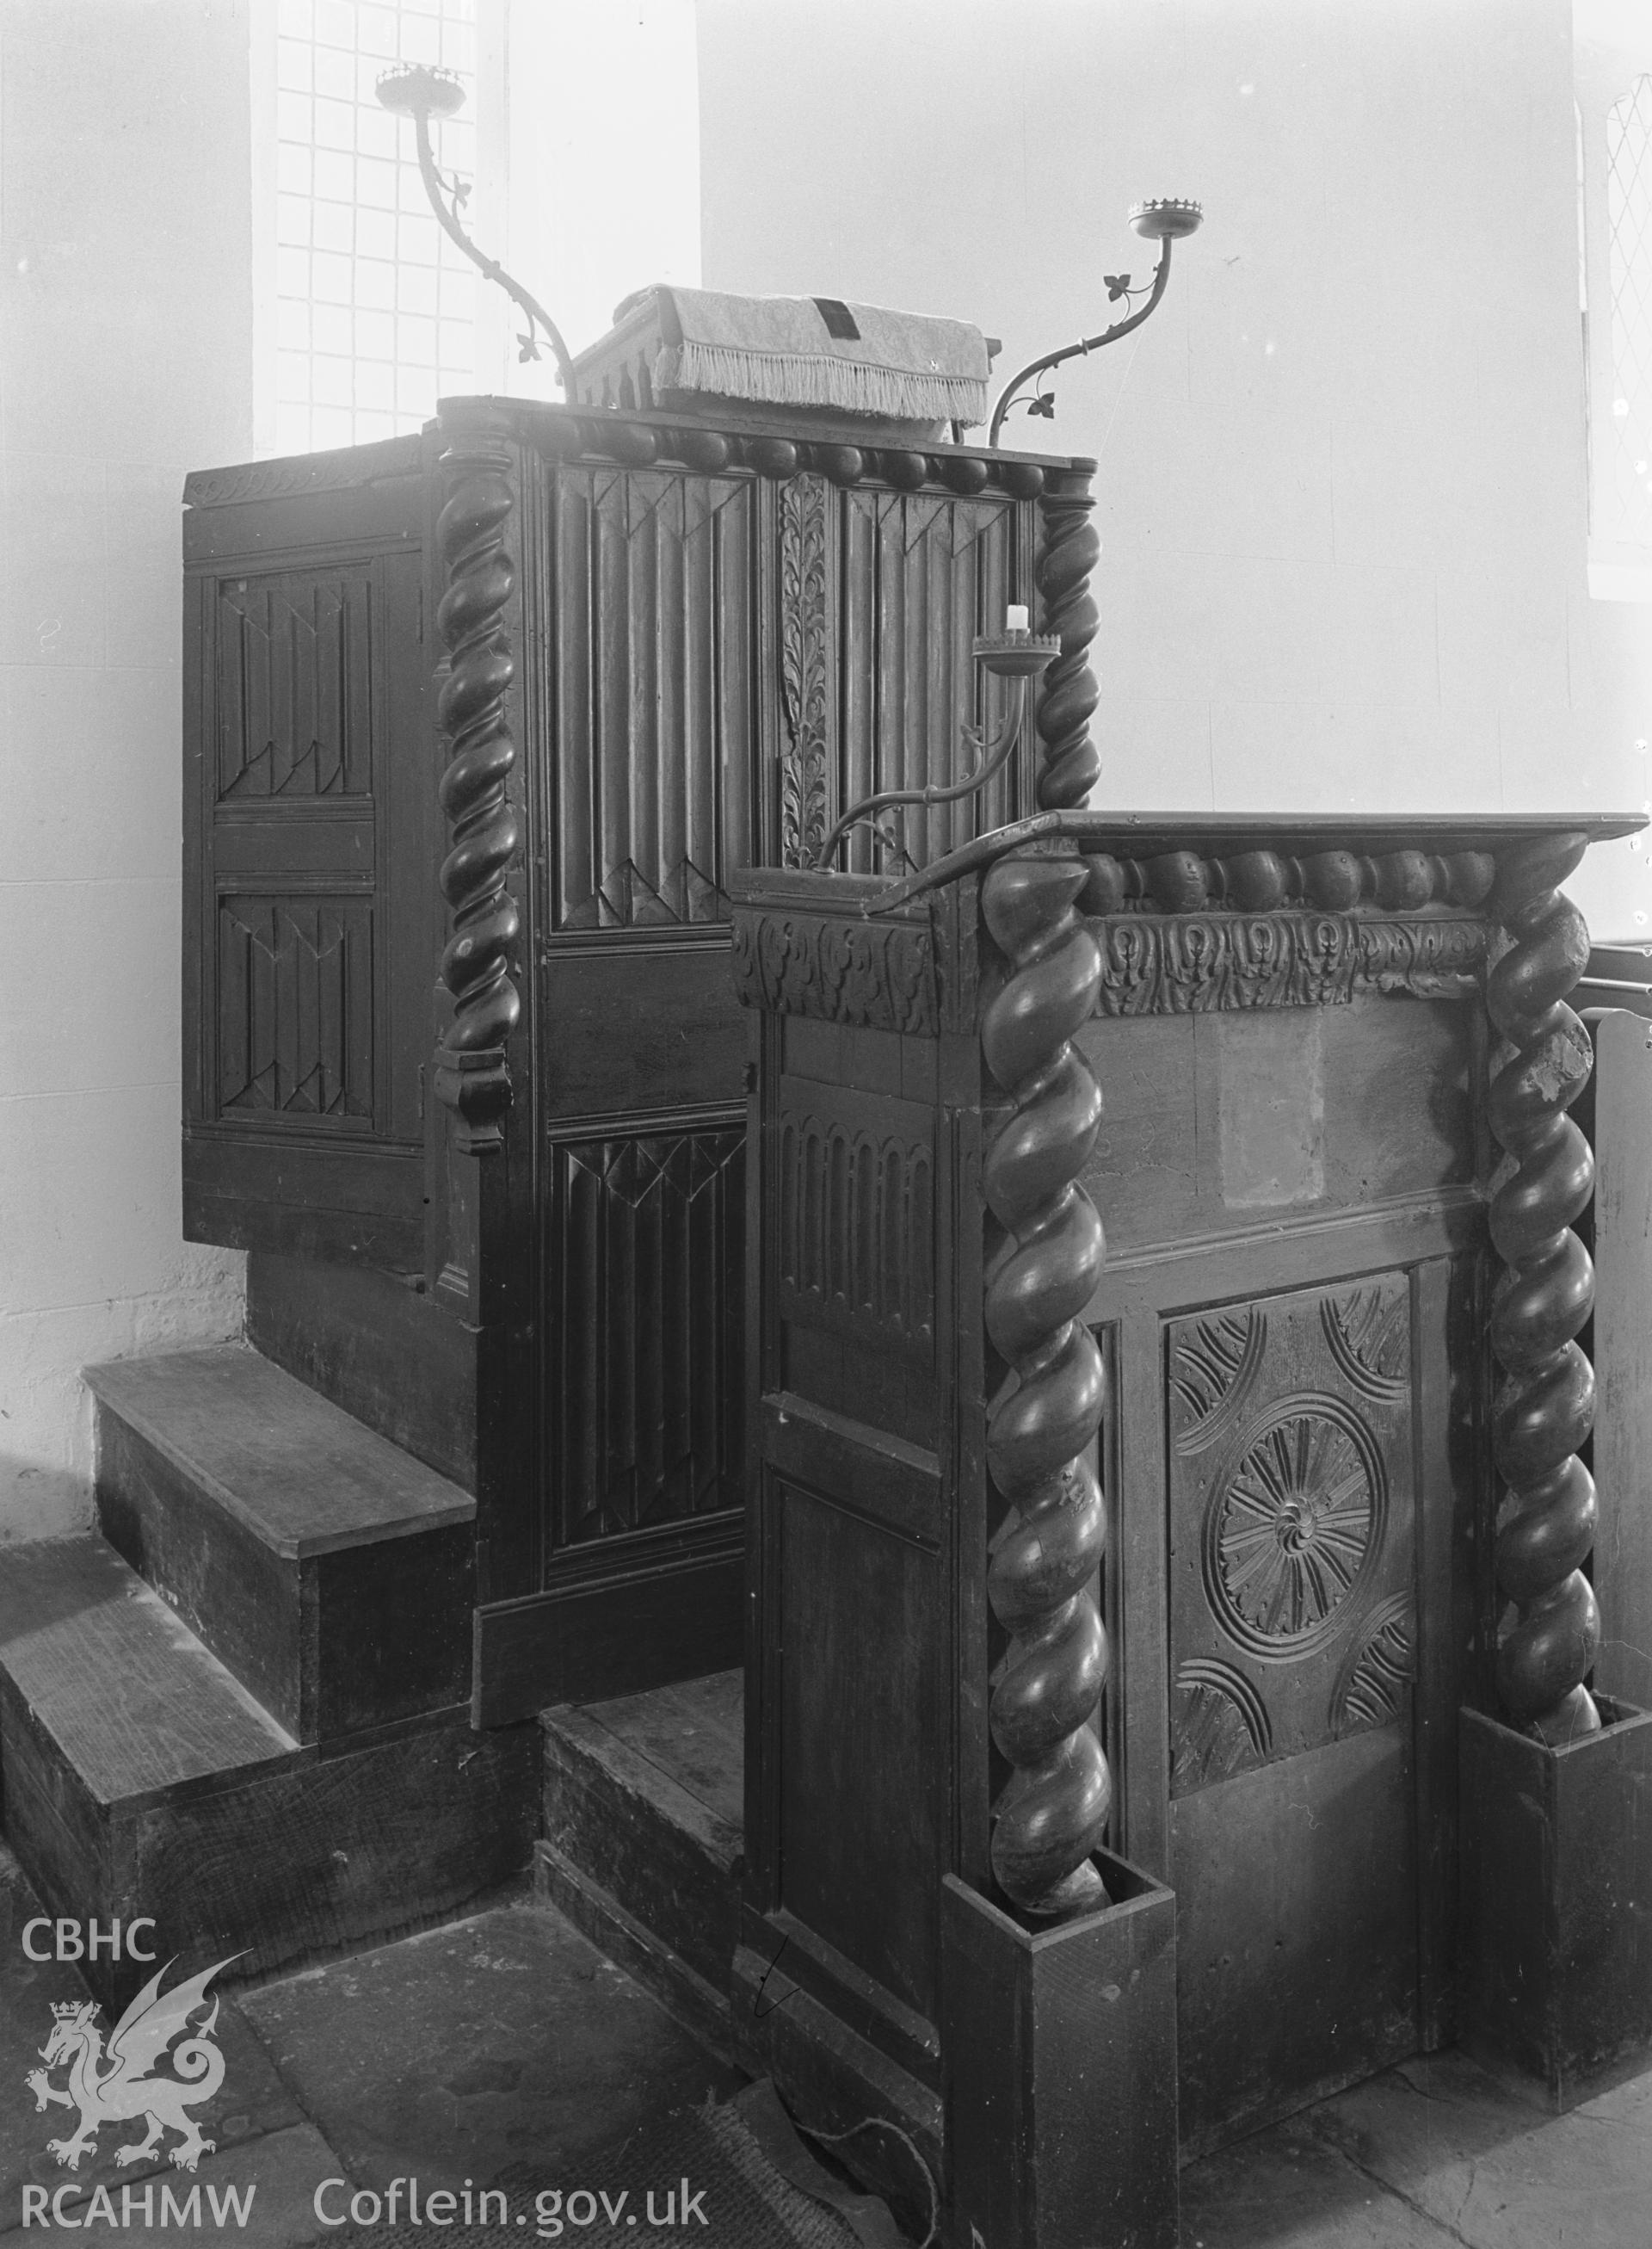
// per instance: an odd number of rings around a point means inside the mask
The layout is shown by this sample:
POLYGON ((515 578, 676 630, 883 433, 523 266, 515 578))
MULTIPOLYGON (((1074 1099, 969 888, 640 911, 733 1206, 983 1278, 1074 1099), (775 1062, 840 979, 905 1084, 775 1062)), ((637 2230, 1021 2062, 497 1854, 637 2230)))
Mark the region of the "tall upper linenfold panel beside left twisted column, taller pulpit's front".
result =
POLYGON ((753 857, 753 486, 555 484, 555 929, 719 922, 753 857))

